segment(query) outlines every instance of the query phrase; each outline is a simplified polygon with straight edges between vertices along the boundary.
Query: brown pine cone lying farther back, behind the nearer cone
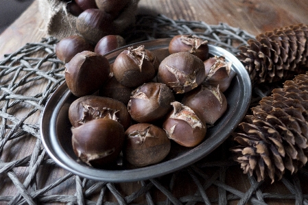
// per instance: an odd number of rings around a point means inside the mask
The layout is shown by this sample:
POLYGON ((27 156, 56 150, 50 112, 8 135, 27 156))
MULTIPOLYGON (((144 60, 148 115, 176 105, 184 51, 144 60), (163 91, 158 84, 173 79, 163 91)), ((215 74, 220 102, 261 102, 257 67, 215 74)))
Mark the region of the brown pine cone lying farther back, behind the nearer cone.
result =
POLYGON ((308 27, 304 24, 274 29, 248 40, 239 60, 252 84, 290 80, 308 69, 308 27))

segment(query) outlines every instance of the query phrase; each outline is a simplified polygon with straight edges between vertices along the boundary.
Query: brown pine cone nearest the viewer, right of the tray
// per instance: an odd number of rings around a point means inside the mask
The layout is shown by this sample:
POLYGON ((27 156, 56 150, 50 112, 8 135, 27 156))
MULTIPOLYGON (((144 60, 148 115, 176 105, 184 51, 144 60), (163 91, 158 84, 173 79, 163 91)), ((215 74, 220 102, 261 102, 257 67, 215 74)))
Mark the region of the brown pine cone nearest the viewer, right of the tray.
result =
POLYGON ((231 150, 244 173, 280 180, 285 169, 296 173, 307 162, 308 72, 287 80, 252 108, 233 133, 239 143, 231 150))

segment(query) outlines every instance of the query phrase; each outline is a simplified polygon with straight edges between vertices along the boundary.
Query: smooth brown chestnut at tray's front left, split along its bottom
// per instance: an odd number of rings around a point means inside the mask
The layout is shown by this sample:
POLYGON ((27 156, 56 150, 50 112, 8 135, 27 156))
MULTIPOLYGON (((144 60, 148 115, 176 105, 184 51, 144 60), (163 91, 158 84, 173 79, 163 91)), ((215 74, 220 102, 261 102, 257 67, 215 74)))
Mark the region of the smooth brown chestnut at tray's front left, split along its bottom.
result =
POLYGON ((123 126, 108 118, 94 119, 71 128, 73 151, 79 160, 102 168, 119 156, 125 140, 123 126))

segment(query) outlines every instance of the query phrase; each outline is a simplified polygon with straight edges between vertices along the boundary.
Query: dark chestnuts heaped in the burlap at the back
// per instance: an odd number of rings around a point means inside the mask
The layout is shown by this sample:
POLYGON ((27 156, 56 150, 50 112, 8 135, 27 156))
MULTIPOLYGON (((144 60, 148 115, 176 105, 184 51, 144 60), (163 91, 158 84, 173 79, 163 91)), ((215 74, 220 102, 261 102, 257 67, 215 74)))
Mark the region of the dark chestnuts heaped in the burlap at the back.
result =
POLYGON ((139 0, 62 0, 76 18, 78 34, 91 43, 107 35, 120 35, 136 19, 139 0))

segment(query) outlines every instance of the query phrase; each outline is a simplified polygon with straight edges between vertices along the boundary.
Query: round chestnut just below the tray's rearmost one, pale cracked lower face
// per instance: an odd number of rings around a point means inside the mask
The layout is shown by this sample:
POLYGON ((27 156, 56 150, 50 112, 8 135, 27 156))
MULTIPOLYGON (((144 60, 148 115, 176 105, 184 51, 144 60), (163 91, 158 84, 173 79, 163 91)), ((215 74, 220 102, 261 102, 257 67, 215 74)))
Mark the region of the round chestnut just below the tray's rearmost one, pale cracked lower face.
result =
POLYGON ((158 68, 157 80, 177 94, 187 93, 206 77, 204 63, 191 53, 174 53, 165 58, 158 68))

